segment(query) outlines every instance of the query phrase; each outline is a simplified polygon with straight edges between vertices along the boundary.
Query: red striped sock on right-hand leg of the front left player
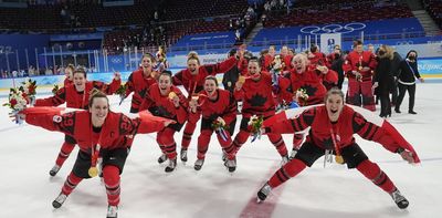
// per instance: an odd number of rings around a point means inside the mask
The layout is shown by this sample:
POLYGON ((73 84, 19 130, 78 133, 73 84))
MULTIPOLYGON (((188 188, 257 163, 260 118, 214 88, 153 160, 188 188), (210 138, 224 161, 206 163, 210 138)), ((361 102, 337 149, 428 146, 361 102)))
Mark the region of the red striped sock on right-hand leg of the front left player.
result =
POLYGON ((103 179, 106 186, 107 204, 118 206, 119 204, 119 169, 116 166, 107 165, 103 168, 103 179))

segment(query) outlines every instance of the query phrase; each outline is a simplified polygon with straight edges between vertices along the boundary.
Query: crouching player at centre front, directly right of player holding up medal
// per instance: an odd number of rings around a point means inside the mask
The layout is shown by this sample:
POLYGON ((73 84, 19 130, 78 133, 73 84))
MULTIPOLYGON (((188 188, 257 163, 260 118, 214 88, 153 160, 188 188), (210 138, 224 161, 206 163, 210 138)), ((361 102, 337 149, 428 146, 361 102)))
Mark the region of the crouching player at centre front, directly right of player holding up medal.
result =
POLYGON ((206 77, 204 90, 200 92, 198 98, 192 98, 189 103, 189 120, 197 123, 201 117, 201 133, 198 137, 198 155, 194 169, 200 170, 204 164, 206 153, 209 147, 210 137, 215 132, 218 142, 228 159, 233 159, 233 149, 227 149, 231 144, 236 124, 236 101, 227 91, 218 89, 218 80, 213 75, 206 77))

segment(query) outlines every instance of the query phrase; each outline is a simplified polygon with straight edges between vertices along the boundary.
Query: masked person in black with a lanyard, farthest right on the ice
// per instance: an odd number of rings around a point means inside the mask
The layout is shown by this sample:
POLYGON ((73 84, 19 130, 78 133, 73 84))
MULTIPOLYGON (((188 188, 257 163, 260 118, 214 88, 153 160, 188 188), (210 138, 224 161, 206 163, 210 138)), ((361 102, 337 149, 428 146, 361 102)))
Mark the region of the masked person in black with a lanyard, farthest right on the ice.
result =
POLYGON ((399 65, 399 76, 398 76, 398 87, 399 87, 399 96, 398 102, 396 103, 394 112, 400 112, 400 105, 402 103, 403 97, 406 96, 406 91, 408 91, 409 95, 409 114, 417 114, 413 111, 414 107, 414 93, 415 93, 415 77, 423 82, 423 77, 419 74, 418 71, 418 52, 414 50, 410 50, 407 53, 406 60, 402 60, 399 65))

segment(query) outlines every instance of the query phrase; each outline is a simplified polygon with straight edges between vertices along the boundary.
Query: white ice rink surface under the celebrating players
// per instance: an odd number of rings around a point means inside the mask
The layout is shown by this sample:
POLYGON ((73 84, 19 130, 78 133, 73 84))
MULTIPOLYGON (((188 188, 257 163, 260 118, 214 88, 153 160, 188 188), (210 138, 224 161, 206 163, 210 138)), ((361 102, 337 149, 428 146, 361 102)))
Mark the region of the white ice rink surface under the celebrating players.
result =
MULTIPOLYGON (((38 89, 38 97, 49 89, 38 89)), ((45 93, 45 94, 43 94, 45 93)), ((2 91, 0 102, 7 102, 2 91)), ((112 110, 128 112, 130 101, 112 110)), ((328 164, 323 158, 312 168, 272 191, 263 204, 255 203, 259 188, 280 167, 281 157, 266 137, 244 144, 238 155, 238 168, 228 173, 221 148, 212 137, 204 165, 193 169, 199 126, 189 149, 189 162, 166 174, 159 165, 160 149, 155 134, 137 135, 122 175, 122 203, 118 217, 314 217, 314 218, 431 218, 441 217, 442 208, 442 83, 419 83, 414 111, 408 114, 408 95, 401 114, 388 118, 414 146, 421 165, 403 162, 376 143, 357 142, 368 157, 378 163, 410 201, 407 210, 397 208, 388 194, 346 165, 328 164)), ((379 106, 377 106, 379 110, 379 106)), ((28 124, 17 125, 0 108, 0 217, 105 217, 106 190, 99 178, 83 180, 60 209, 52 200, 59 195, 71 172, 77 148, 59 174, 51 178, 64 136, 28 124)), ((376 112, 379 114, 379 111, 376 112)), ((239 116, 239 121, 241 116, 239 116)), ((236 124, 239 128, 239 124, 236 124)), ((182 131, 175 136, 179 145, 182 131)), ((284 135, 291 149, 292 135, 284 135)))

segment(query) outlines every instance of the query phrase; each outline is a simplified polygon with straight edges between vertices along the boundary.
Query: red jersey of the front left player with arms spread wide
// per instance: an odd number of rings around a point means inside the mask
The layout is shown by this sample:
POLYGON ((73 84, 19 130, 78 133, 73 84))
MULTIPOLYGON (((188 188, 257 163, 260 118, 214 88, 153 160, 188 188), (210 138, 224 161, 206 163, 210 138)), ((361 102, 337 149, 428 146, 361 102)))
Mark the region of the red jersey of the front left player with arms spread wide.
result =
POLYGON ((80 149, 86 153, 91 153, 92 147, 96 144, 99 144, 102 149, 129 147, 131 145, 131 136, 138 133, 161 131, 164 122, 167 121, 151 115, 140 115, 139 118, 133 120, 122 113, 109 112, 101 132, 94 133, 91 113, 87 111, 76 111, 60 115, 60 111, 53 108, 31 107, 22 113, 27 115, 25 121, 31 125, 74 137, 80 149), (42 111, 48 112, 44 113, 42 111))

